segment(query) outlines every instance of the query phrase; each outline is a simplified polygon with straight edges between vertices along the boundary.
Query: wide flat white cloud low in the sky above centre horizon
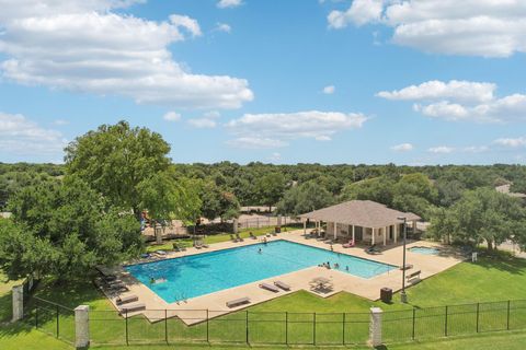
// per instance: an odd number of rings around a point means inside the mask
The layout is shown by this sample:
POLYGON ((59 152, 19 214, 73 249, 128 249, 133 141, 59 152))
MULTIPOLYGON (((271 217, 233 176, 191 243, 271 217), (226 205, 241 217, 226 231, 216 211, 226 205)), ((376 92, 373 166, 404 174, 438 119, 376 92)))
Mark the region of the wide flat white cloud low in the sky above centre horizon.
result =
MULTIPOLYGON (((239 138, 242 144, 258 139, 255 145, 283 147, 289 140, 307 138, 318 141, 329 141, 338 131, 357 129, 367 118, 363 114, 339 112, 297 112, 276 114, 245 114, 238 119, 230 120, 227 128, 239 138), (272 141, 272 142, 271 142, 272 141), (274 142, 279 141, 279 142, 274 142), (276 145, 278 144, 278 145, 276 145)), ((241 144, 238 142, 238 144, 241 144)))

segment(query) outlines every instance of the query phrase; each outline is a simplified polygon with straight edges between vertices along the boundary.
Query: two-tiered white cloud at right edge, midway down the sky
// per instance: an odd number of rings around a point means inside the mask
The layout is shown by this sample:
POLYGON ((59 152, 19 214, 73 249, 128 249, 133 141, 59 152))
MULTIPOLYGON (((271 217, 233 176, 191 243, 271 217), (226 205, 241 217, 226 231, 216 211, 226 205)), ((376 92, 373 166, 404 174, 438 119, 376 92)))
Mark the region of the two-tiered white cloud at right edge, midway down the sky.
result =
POLYGON ((492 83, 428 81, 401 90, 381 91, 377 96, 395 101, 424 101, 413 109, 427 117, 445 120, 506 122, 526 120, 526 95, 496 97, 492 83))

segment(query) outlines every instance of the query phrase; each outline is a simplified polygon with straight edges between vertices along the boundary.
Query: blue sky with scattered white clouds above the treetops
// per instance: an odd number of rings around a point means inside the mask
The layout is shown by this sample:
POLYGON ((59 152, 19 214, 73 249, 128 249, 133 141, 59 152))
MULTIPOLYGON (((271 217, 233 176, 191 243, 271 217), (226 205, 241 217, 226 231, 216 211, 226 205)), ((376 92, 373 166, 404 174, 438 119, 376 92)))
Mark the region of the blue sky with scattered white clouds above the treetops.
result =
POLYGON ((0 161, 121 119, 174 162, 526 163, 526 4, 0 0, 0 161))

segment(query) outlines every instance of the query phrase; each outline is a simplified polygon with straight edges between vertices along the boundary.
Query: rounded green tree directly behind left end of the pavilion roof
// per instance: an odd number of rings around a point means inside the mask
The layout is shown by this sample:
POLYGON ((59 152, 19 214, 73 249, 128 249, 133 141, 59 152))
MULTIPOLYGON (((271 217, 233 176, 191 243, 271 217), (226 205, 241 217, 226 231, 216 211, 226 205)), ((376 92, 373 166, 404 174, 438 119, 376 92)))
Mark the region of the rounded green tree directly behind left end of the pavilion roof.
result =
POLYGON ((299 215, 332 205, 333 196, 316 182, 294 186, 285 192, 277 203, 277 212, 286 215, 299 215))

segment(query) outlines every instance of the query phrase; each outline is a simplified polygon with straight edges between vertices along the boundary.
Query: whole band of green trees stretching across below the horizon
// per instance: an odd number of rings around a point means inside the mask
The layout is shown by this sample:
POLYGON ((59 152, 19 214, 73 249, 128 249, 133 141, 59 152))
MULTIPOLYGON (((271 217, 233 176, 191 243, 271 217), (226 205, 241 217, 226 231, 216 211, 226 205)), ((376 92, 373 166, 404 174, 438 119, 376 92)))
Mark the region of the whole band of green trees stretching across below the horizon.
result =
POLYGON ((277 206, 287 215, 352 199, 369 199, 431 220, 436 238, 494 248, 525 247, 521 190, 526 167, 387 165, 174 164, 171 147, 147 128, 103 125, 72 141, 65 164, 0 164, 0 268, 59 280, 82 276, 142 252, 140 221, 239 215, 240 206, 277 206))

